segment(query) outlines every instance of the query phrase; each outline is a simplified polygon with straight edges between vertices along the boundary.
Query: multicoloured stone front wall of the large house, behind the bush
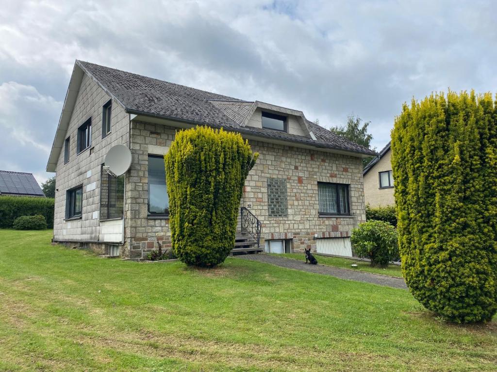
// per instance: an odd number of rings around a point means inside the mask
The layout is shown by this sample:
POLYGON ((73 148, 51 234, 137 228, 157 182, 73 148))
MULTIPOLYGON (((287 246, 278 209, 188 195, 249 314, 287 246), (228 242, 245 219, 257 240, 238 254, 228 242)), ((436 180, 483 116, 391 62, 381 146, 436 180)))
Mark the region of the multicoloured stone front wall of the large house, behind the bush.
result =
MULTIPOLYGON (((170 247, 168 219, 148 216, 148 155, 163 155, 174 139, 175 128, 162 124, 132 122, 133 162, 126 189, 125 237, 130 258, 144 258, 157 242, 170 247)), ((294 251, 316 250, 318 238, 348 237, 365 221, 362 162, 360 158, 249 141, 260 153, 250 171, 241 205, 262 222, 262 238, 292 239, 294 251), (268 179, 286 183, 287 213, 269 216, 268 179), (318 182, 349 185, 350 216, 320 217, 318 182)), ((275 197, 279 197, 275 195, 275 197)), ((262 244, 264 242, 261 242, 262 244)))

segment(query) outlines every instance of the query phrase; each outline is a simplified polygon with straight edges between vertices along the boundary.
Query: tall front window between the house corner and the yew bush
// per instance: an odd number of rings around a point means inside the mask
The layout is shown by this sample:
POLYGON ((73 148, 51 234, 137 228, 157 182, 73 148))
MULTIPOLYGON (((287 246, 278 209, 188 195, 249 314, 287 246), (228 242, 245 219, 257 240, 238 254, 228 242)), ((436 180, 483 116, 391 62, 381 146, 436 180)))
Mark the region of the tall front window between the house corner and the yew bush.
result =
POLYGON ((149 215, 168 216, 169 196, 166 187, 164 157, 149 155, 149 215))

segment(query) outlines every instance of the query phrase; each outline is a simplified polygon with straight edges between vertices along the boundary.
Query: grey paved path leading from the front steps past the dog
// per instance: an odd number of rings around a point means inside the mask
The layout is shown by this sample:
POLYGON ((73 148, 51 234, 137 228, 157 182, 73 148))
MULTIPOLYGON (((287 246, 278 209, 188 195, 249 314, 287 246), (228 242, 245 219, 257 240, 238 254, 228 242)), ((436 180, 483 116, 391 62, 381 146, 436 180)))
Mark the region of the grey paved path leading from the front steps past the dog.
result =
POLYGON ((403 278, 395 278, 388 275, 372 274, 369 272, 348 270, 339 267, 319 264, 309 265, 304 261, 299 261, 297 259, 272 256, 264 253, 244 254, 235 257, 252 261, 265 262, 271 265, 286 267, 289 269, 313 272, 316 274, 331 275, 340 279, 355 280, 358 282, 378 284, 380 286, 407 289, 406 283, 404 282, 403 278))

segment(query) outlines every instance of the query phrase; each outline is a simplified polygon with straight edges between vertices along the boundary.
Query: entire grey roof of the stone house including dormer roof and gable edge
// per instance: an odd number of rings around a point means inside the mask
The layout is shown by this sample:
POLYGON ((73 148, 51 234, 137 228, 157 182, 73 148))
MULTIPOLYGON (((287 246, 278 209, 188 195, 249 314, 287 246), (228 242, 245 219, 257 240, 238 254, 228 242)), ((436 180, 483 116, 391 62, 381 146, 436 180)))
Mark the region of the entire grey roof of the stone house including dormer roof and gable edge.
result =
POLYGON ((293 141, 320 148, 336 149, 354 153, 358 156, 376 155, 376 152, 373 150, 367 149, 331 133, 328 129, 309 122, 301 111, 258 101, 244 101, 222 94, 211 93, 77 60, 47 164, 48 172, 55 172, 83 73, 93 78, 128 114, 151 116, 193 125, 222 127, 227 130, 238 131, 242 134, 293 141), (300 116, 301 124, 303 128, 307 128, 310 136, 306 137, 273 129, 245 126, 251 113, 257 107, 264 106, 270 106, 276 108, 278 111, 300 116))

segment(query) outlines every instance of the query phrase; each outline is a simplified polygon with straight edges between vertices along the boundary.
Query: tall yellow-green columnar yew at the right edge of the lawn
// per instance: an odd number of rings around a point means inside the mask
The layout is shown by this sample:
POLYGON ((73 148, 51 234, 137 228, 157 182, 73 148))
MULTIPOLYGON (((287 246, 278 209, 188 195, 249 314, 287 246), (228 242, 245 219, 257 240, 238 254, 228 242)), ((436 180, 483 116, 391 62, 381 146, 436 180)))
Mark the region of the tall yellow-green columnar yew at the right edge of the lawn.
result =
POLYGON ((497 311, 497 109, 490 93, 404 104, 392 132, 407 285, 455 322, 497 311))

